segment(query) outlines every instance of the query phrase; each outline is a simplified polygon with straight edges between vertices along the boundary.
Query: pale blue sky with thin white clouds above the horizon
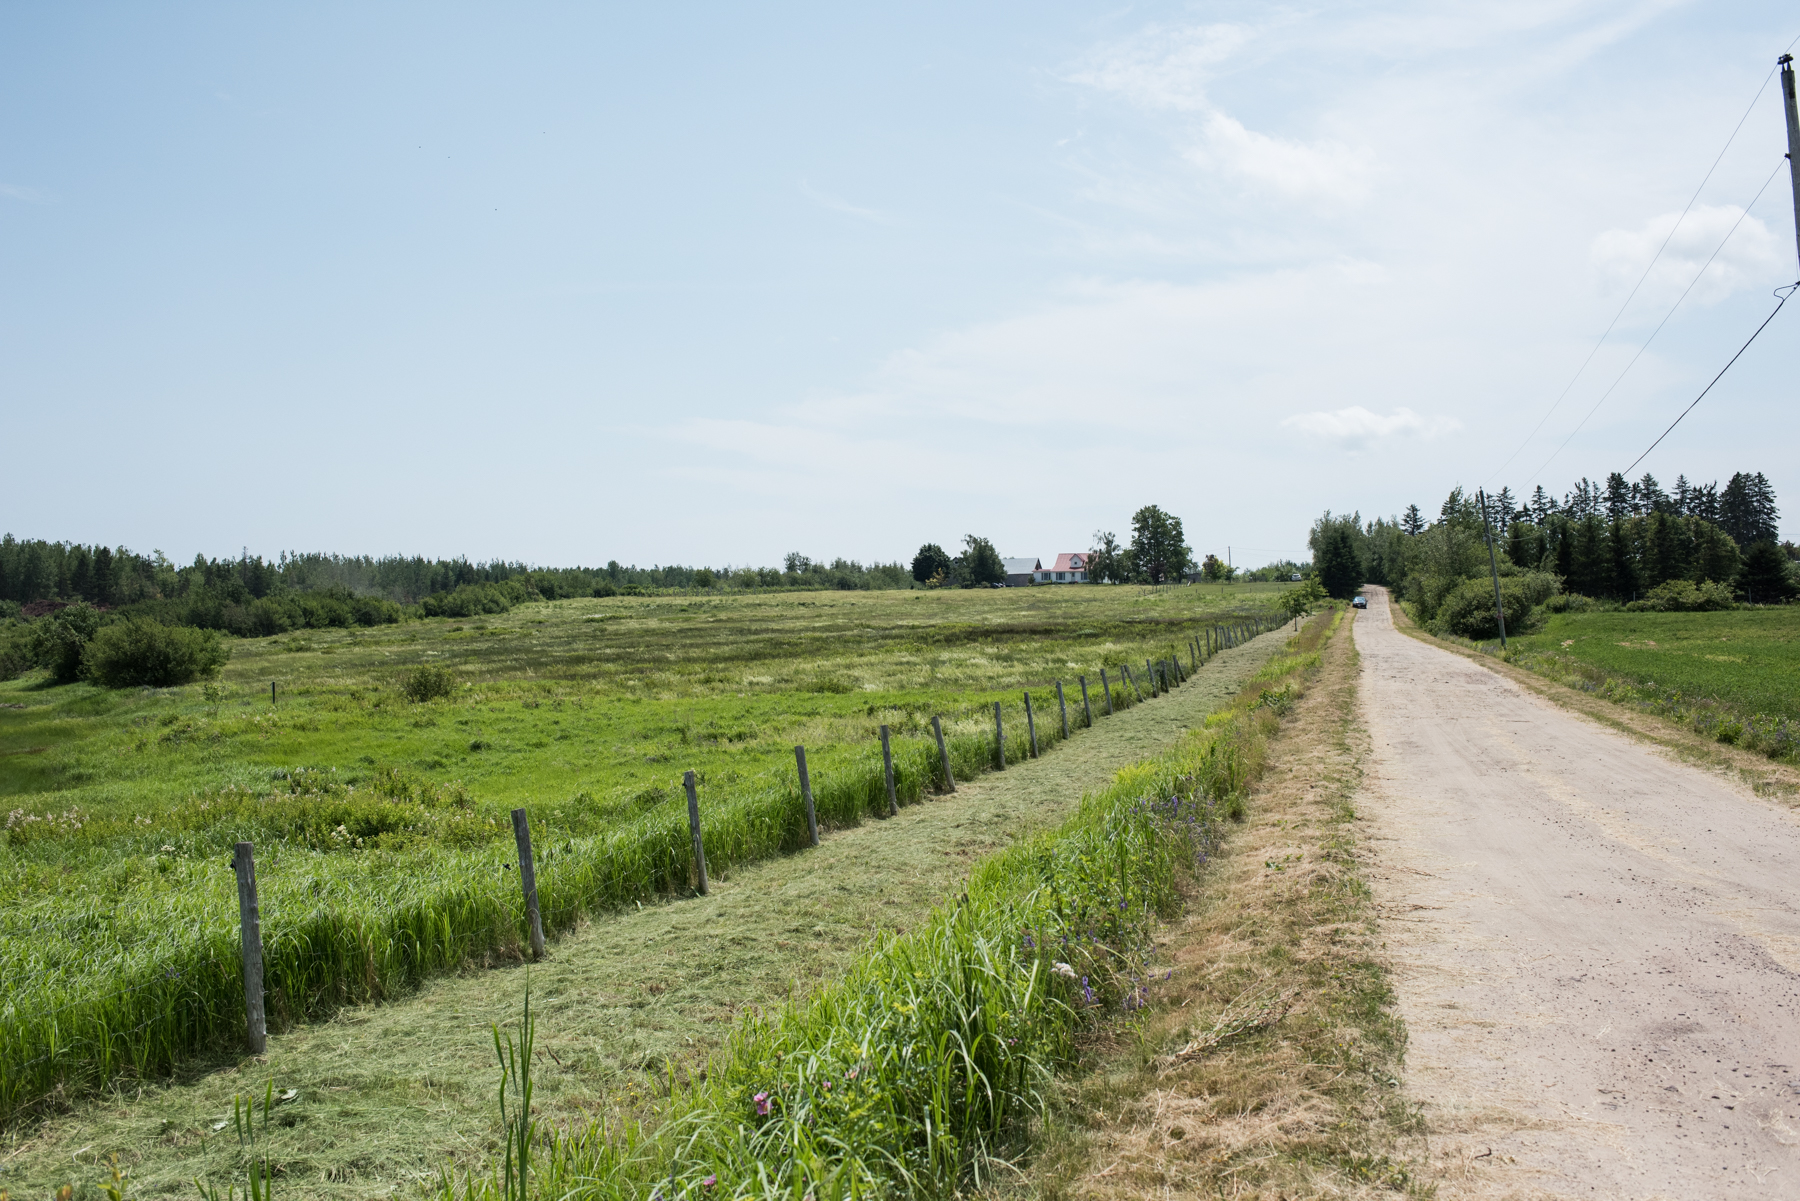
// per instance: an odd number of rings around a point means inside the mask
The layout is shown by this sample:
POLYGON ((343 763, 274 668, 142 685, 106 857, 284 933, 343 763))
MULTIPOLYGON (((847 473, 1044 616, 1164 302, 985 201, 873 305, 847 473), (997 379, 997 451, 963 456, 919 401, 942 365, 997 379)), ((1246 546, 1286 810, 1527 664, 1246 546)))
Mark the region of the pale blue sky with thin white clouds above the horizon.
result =
MULTIPOLYGON (((1325 510, 1562 493, 1800 275, 1796 36, 1669 0, 5 5, 0 529, 742 565, 1049 558, 1159 504, 1258 565, 1325 510)), ((1793 537, 1796 366, 1800 303, 1633 474, 1760 470, 1793 537)))

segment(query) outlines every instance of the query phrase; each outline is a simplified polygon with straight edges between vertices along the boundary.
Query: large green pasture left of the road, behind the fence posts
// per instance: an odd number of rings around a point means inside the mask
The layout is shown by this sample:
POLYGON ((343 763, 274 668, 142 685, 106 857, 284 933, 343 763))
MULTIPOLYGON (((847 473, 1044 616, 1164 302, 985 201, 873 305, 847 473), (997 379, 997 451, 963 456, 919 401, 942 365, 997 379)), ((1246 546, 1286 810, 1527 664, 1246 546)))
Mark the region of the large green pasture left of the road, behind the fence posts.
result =
POLYGON ((878 724, 895 729, 902 799, 918 799, 932 713, 959 778, 992 756, 994 700, 1008 760, 1022 758, 1022 690, 1048 745, 1055 681, 1087 675, 1098 713, 1102 666, 1141 677, 1271 591, 554 601, 238 643, 214 686, 0 686, 0 1111, 155 1073, 241 1026, 238 839, 257 843, 279 1026, 515 954, 515 805, 547 924, 569 927, 688 888, 684 769, 702 780, 709 861, 729 871, 797 848, 794 744, 821 816, 850 825, 886 810, 878 724), (459 686, 407 704, 398 679, 425 663, 459 686))

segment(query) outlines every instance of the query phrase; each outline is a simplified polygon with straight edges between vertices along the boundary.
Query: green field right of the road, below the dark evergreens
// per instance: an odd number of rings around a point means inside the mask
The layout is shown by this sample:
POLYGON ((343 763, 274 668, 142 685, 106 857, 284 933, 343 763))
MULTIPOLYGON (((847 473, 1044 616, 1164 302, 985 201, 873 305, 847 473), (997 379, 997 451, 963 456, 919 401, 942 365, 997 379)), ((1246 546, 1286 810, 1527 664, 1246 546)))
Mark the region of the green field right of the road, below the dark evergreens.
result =
POLYGON ((1555 614, 1512 639, 1543 675, 1777 758, 1800 751, 1800 607, 1555 614))

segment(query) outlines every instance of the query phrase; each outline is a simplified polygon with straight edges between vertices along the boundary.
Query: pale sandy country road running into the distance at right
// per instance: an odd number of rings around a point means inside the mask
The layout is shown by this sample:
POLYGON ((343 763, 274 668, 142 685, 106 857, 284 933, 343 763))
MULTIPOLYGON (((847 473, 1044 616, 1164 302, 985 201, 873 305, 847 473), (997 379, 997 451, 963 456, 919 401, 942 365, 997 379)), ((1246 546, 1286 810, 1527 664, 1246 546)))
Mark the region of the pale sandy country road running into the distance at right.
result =
POLYGON ((1800 1196, 1800 819, 1397 632, 1379 589, 1355 639, 1438 1196, 1800 1196))

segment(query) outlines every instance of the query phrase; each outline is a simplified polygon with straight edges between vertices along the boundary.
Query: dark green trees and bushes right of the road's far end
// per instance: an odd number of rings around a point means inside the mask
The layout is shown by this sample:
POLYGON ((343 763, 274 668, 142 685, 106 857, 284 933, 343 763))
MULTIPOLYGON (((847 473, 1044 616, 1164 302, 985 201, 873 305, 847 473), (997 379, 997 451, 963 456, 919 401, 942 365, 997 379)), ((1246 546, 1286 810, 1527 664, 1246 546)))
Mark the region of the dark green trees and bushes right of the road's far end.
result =
POLYGON ((1478 499, 1456 488, 1429 524, 1417 504, 1370 522, 1327 513, 1310 540, 1332 596, 1382 583, 1438 630, 1492 637, 1489 533, 1512 630, 1546 607, 1595 601, 1634 609, 1789 601, 1800 594, 1800 547, 1777 544, 1778 519, 1760 472, 1741 472, 1723 490, 1681 477, 1674 492, 1651 475, 1627 483, 1613 474, 1604 486, 1582 479, 1561 502, 1543 488, 1519 506, 1508 490, 1478 499))

